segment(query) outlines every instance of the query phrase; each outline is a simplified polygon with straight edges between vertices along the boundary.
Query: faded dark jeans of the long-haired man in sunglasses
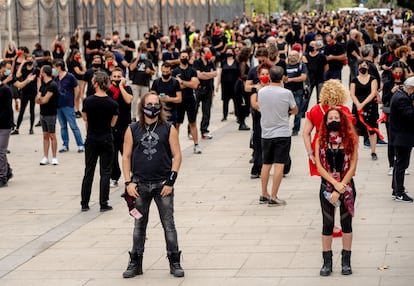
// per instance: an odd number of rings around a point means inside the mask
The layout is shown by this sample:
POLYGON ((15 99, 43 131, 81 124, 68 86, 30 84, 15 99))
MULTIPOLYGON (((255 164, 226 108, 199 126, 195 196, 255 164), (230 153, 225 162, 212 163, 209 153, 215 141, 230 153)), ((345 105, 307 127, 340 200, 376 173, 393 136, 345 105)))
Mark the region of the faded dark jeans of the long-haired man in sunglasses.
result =
POLYGON ((138 183, 139 197, 135 207, 142 214, 135 220, 132 252, 143 254, 147 232, 149 210, 152 199, 158 208, 162 227, 164 228, 167 254, 178 252, 177 230, 174 223, 174 192, 166 197, 161 196, 162 183, 138 183))

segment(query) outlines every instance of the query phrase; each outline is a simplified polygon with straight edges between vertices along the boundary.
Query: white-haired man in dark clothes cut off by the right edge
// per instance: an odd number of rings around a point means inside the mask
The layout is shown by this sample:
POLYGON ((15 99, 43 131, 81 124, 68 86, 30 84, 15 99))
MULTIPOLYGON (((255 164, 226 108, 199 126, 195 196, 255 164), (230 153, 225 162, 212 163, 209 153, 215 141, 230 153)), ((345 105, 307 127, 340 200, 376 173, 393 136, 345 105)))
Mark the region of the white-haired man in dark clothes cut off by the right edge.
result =
POLYGON ((414 146, 414 76, 404 81, 391 98, 390 144, 394 146, 395 161, 392 178, 392 195, 396 202, 412 203, 404 187, 404 173, 410 164, 411 150, 414 146))

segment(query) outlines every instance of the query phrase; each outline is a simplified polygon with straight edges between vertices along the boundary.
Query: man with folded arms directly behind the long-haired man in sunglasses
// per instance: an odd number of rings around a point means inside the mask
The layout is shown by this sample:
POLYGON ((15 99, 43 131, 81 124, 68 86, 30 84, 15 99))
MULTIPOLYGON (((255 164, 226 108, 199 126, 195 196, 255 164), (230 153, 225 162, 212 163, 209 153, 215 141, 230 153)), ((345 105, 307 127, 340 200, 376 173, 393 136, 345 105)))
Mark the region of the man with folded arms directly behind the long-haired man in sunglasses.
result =
POLYGON ((165 104, 167 121, 175 126, 177 124, 177 104, 181 103, 182 95, 180 83, 171 76, 171 72, 171 65, 163 63, 161 77, 154 80, 151 90, 160 96, 160 100, 165 104))

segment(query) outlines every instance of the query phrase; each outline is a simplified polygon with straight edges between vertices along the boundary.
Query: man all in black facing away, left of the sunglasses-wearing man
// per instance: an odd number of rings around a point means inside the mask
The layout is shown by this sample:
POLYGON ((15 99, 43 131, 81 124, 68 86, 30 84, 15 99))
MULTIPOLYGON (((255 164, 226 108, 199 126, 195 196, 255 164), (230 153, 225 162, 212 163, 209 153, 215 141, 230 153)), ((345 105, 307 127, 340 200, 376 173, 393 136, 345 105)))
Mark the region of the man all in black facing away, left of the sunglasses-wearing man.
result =
POLYGON ((118 119, 119 107, 106 91, 109 77, 104 72, 96 72, 92 78, 95 94, 83 101, 82 118, 86 125, 85 174, 82 181, 81 210, 89 210, 93 176, 99 158, 100 183, 99 204, 101 212, 112 210, 108 204, 109 180, 112 172, 114 144, 112 128, 118 119))

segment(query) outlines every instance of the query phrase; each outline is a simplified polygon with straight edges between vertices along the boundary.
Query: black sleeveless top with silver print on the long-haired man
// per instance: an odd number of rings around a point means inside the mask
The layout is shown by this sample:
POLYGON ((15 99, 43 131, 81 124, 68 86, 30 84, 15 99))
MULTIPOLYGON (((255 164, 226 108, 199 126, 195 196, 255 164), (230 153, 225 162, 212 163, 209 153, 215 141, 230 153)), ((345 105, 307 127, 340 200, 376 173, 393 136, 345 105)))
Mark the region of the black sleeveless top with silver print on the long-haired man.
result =
POLYGON ((134 141, 132 178, 139 182, 162 182, 171 174, 172 153, 169 144, 171 124, 153 123, 144 129, 138 122, 130 125, 134 141))

